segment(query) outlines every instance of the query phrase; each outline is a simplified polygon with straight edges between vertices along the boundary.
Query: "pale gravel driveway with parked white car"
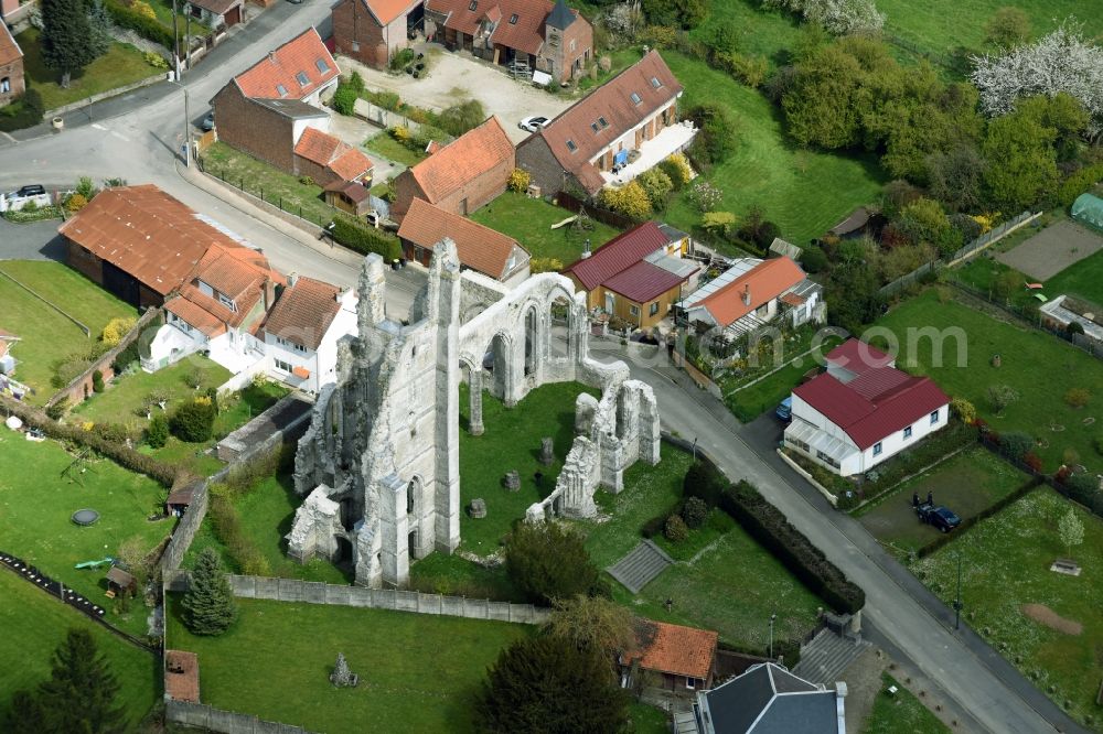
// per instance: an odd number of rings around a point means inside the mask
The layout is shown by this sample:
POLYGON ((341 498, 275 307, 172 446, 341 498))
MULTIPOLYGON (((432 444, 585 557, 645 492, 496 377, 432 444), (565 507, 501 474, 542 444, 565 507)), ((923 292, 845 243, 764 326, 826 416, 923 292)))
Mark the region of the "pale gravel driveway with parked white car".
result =
POLYGON ((446 51, 439 44, 417 44, 418 53, 430 57, 429 75, 415 79, 406 74, 388 74, 341 56, 338 61, 347 73, 353 69, 364 77, 368 89, 397 93, 403 101, 440 111, 464 99, 478 99, 486 115, 497 115, 514 144, 528 137, 517 127, 522 118, 543 115, 550 119, 575 101, 558 97, 517 82, 501 68, 446 51))

